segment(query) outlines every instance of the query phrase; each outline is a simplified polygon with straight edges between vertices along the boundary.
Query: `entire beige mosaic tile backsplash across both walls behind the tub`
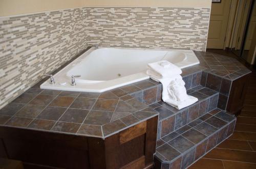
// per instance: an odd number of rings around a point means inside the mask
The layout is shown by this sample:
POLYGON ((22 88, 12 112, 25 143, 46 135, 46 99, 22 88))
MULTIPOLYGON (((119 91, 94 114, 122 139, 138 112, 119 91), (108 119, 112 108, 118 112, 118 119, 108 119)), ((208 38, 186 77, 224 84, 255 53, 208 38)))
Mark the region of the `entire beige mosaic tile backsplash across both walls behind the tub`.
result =
POLYGON ((89 45, 205 51, 209 8, 75 8, 0 18, 0 109, 89 45))

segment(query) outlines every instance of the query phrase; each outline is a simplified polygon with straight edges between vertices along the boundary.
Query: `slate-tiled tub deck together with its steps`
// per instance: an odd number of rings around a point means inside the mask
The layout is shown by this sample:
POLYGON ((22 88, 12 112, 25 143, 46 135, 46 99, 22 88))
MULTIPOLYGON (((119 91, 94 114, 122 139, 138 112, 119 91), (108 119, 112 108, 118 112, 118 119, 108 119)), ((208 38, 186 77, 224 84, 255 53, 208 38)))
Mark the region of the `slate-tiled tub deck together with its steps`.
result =
POLYGON ((155 168, 185 168, 232 134, 236 118, 221 109, 232 81, 250 73, 236 59, 195 53, 200 65, 182 77, 199 101, 182 110, 161 102, 162 86, 152 80, 89 93, 42 90, 45 79, 0 110, 0 125, 106 138, 159 115, 155 168))

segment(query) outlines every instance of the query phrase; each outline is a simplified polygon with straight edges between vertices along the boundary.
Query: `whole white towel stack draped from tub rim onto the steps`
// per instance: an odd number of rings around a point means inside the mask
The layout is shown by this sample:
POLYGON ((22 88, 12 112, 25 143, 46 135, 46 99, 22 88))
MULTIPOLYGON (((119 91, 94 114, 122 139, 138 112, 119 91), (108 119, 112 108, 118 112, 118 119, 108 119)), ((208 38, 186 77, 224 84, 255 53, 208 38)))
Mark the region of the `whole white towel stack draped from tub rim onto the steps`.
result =
POLYGON ((177 108, 182 109, 198 101, 194 96, 187 95, 185 82, 180 74, 181 69, 168 61, 159 61, 148 64, 147 75, 151 79, 162 83, 162 100, 177 108))

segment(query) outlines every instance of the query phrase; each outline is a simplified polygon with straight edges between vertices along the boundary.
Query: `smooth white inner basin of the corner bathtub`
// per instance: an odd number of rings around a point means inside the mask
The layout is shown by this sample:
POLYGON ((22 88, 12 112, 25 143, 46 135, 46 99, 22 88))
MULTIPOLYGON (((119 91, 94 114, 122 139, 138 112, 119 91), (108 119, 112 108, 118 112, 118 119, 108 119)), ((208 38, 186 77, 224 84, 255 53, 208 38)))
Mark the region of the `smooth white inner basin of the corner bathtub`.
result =
POLYGON ((184 53, 174 51, 97 49, 73 64, 67 76, 81 75, 78 81, 102 82, 145 72, 148 63, 167 60, 175 64, 185 59, 184 53))

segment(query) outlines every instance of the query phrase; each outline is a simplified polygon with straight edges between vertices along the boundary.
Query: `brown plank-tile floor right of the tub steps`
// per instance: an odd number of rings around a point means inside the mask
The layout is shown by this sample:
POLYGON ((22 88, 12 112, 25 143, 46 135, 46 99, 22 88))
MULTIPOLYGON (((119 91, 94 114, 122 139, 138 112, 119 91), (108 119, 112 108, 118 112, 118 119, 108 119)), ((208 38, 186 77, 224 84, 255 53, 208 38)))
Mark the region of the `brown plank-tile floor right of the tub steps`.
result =
MULTIPOLYGON (((218 116, 218 115, 217 115, 218 116)), ((256 73, 249 77, 244 108, 231 137, 212 149, 190 169, 256 168, 256 73)))

